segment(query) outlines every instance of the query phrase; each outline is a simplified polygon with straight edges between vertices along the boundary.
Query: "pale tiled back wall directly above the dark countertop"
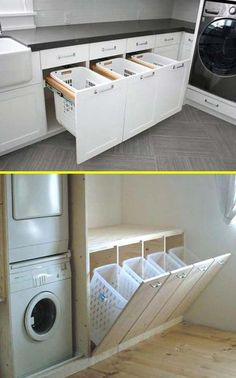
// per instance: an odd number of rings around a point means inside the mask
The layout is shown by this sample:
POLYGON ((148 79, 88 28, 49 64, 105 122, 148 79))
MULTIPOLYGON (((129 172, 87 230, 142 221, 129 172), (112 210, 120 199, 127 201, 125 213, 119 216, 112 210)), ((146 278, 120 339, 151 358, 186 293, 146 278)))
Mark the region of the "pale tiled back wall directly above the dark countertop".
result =
POLYGON ((36 25, 169 18, 174 0, 34 0, 36 25))

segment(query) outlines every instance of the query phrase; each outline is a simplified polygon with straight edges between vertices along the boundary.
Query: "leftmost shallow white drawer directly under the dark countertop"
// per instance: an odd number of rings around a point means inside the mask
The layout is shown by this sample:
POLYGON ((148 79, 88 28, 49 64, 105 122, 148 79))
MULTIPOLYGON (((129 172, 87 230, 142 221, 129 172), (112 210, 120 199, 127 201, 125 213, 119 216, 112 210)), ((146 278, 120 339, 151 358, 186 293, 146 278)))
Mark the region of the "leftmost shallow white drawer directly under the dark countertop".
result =
POLYGON ((41 54, 42 69, 60 67, 89 60, 89 45, 61 47, 44 50, 41 54))

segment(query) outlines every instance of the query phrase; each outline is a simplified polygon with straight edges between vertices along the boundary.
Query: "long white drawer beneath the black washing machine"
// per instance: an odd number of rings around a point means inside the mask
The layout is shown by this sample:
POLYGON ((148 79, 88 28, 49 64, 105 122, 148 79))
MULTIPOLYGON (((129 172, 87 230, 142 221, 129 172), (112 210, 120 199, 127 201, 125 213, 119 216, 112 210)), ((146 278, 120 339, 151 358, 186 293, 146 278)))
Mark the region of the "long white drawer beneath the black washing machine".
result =
POLYGON ((219 112, 228 117, 236 119, 236 106, 231 106, 225 102, 220 101, 216 97, 205 95, 204 93, 188 89, 187 98, 202 106, 207 107, 211 111, 219 112))

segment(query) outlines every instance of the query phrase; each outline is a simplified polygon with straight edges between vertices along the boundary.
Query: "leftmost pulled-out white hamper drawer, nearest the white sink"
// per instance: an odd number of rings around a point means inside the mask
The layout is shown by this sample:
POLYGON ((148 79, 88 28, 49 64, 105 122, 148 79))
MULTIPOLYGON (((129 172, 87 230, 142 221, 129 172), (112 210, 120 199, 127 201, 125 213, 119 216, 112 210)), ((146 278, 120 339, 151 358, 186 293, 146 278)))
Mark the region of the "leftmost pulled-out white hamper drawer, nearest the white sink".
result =
POLYGON ((58 122, 76 137, 78 164, 122 141, 126 90, 122 80, 112 79, 84 67, 46 78, 58 122))

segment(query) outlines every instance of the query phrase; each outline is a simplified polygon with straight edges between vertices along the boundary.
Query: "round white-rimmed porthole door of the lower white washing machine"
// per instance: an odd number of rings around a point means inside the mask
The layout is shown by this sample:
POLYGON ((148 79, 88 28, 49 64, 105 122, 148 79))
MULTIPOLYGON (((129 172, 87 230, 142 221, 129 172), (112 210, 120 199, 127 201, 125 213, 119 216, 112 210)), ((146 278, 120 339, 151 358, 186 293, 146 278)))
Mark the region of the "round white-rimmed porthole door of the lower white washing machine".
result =
POLYGON ((59 299, 50 292, 35 296, 25 312, 25 329, 34 341, 45 341, 57 332, 61 319, 59 299))

